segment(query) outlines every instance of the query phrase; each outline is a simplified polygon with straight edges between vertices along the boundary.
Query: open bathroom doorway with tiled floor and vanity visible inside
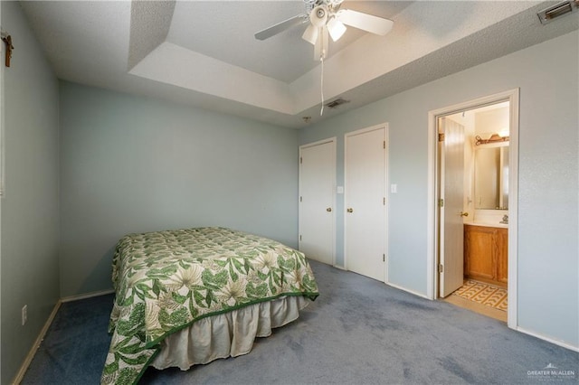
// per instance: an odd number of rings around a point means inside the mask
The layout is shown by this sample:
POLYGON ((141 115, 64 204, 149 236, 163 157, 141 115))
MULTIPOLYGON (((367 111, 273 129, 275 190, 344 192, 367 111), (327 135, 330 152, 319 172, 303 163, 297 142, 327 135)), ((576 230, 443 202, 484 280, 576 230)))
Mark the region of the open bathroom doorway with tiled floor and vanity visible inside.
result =
POLYGON ((429 129, 432 298, 514 325, 518 90, 431 111, 429 129))

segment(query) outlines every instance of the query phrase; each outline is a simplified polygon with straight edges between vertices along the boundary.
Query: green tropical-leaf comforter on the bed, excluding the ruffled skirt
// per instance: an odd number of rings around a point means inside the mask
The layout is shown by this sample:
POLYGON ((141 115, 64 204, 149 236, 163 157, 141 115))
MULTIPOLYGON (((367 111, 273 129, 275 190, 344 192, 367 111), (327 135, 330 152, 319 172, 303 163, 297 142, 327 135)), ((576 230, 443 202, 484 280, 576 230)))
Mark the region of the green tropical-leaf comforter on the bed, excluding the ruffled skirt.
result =
POLYGON ((117 294, 103 384, 136 383, 159 342, 200 318, 280 296, 318 296, 301 252, 223 228, 127 235, 112 266, 117 294))

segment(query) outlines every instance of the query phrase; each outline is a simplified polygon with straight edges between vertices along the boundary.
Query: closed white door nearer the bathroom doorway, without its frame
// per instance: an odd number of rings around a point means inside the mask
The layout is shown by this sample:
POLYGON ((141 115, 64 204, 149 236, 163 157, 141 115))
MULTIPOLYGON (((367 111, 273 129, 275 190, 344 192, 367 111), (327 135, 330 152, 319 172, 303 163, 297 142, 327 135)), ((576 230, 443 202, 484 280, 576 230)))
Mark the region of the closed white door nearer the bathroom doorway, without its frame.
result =
POLYGON ((386 128, 346 134, 346 268, 385 281, 386 128))

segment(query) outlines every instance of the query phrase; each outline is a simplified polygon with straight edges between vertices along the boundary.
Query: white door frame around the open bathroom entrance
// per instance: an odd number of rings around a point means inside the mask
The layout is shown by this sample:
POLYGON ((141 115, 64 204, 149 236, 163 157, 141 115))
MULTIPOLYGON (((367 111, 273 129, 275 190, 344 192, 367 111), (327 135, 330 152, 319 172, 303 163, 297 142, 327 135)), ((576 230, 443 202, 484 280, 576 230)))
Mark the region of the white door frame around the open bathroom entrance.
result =
POLYGON ((508 157, 508 327, 517 327, 517 236, 518 236, 518 130, 519 130, 519 89, 509 89, 493 95, 472 99, 449 107, 438 108, 428 112, 428 193, 427 193, 427 296, 437 299, 439 277, 437 249, 439 240, 436 234, 439 230, 439 215, 437 211, 438 192, 437 167, 438 135, 437 120, 456 114, 462 110, 474 109, 501 101, 509 101, 509 157, 508 157))

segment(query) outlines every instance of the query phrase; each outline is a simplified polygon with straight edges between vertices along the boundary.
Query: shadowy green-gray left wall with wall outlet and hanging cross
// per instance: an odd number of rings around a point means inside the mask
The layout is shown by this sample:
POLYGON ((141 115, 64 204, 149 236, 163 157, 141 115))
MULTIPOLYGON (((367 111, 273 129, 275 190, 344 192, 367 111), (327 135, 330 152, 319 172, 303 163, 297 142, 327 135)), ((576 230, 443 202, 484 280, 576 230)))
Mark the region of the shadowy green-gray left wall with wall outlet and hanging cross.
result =
MULTIPOLYGON (((4 68, 5 195, 2 205, 2 375, 9 383, 33 347, 59 292, 58 80, 18 2, 2 2, 14 41, 4 68), (21 309, 28 305, 28 322, 21 309)), ((4 44, 4 43, 3 43, 4 44)), ((1 64, 4 66, 4 49, 1 64)))

